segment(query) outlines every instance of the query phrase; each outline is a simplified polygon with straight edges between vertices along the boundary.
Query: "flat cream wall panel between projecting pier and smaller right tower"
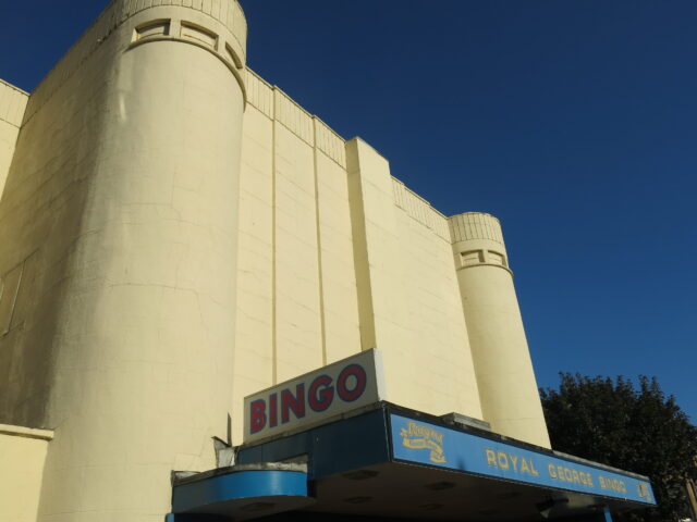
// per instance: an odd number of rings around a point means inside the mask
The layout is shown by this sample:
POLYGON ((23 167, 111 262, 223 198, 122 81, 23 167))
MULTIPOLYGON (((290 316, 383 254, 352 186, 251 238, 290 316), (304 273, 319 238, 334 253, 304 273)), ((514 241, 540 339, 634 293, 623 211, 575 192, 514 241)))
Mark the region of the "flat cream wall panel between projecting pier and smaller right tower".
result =
MULTIPOLYGON (((455 411, 480 419, 479 391, 452 262, 448 220, 401 182, 393 178, 392 186, 400 258, 404 263, 402 287, 415 371, 412 378, 420 381, 418 400, 423 406, 417 409, 436 414, 455 411), (426 390, 427 397, 421 398, 426 390)), ((414 391, 403 377, 401 386, 414 391)))

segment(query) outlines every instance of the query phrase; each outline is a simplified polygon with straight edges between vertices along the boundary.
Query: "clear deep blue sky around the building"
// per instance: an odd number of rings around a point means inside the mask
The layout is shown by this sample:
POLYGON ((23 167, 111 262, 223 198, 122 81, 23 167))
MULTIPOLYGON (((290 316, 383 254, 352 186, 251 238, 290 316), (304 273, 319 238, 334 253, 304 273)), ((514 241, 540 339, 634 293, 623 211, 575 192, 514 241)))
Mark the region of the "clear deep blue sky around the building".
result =
MULTIPOLYGON (((697 2, 242 3, 254 70, 501 219, 540 386, 656 375, 697 422, 697 2)), ((105 4, 3 5, 0 77, 33 89, 105 4)))

